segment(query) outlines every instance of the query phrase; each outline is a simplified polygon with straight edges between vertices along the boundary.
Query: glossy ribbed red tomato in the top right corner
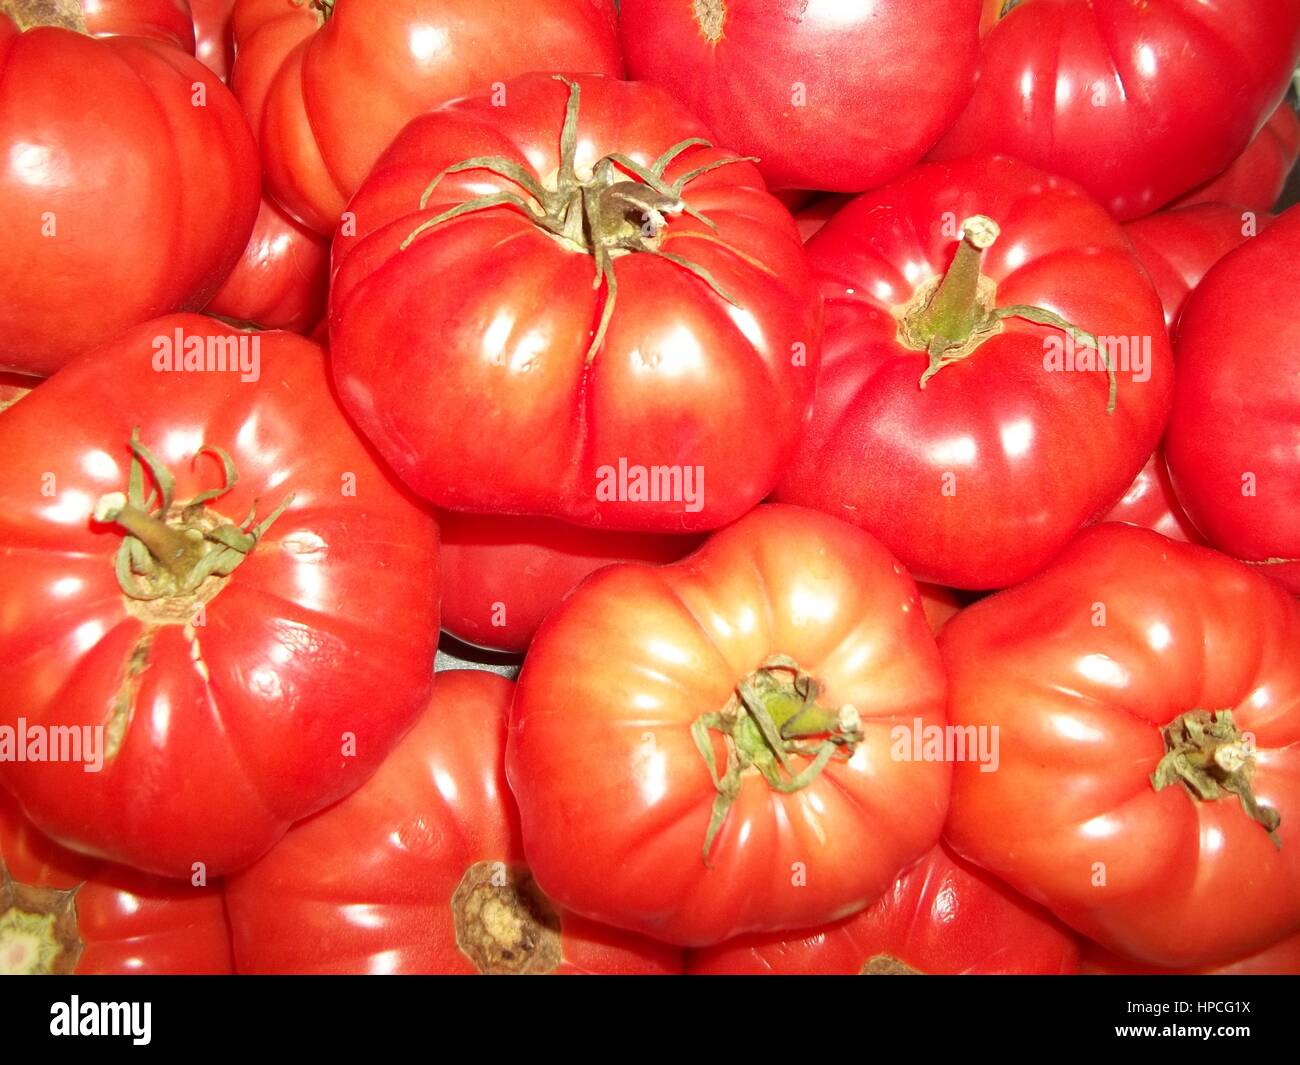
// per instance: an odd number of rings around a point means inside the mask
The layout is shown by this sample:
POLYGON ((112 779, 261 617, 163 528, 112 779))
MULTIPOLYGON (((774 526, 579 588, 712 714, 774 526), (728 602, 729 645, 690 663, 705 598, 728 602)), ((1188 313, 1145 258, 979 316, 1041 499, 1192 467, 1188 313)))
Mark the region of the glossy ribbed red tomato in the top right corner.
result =
POLYGON ((1004 152, 1118 218, 1222 173, 1300 57, 1296 0, 1008 0, 993 14, 975 92, 931 159, 1004 152))

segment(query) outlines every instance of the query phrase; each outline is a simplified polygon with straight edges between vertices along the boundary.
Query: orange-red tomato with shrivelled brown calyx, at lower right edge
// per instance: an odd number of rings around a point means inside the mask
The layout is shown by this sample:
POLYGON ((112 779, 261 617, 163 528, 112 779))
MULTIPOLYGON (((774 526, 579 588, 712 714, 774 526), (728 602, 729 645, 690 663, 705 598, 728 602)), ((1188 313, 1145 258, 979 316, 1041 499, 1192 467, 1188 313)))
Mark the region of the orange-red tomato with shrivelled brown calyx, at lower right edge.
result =
POLYGON ((939 638, 946 836, 1106 948, 1196 967, 1300 932, 1300 602, 1205 547, 1088 529, 939 638), (1280 818, 1280 823, 1279 823, 1280 818))

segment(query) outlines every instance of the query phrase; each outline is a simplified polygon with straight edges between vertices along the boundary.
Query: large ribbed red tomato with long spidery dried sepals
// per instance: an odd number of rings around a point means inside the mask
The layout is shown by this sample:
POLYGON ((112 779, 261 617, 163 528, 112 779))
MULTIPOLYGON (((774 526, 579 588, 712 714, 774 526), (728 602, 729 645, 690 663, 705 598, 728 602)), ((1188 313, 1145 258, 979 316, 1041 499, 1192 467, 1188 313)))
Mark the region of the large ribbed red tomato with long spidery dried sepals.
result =
POLYGON ((740 518, 812 401, 822 300, 789 212, 653 86, 502 91, 411 122, 352 200, 330 290, 343 406, 448 510, 740 518))

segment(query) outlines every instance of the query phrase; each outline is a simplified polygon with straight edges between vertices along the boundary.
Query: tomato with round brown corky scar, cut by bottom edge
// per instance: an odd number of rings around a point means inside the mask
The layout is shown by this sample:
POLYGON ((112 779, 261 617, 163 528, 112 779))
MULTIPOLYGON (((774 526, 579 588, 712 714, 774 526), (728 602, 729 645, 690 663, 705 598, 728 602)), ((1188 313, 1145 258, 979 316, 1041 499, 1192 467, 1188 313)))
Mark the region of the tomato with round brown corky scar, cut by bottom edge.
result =
POLYGON ((438 674, 374 776, 230 879, 240 973, 681 971, 680 952, 538 891, 502 765, 514 687, 438 674))

